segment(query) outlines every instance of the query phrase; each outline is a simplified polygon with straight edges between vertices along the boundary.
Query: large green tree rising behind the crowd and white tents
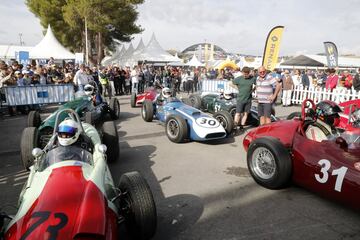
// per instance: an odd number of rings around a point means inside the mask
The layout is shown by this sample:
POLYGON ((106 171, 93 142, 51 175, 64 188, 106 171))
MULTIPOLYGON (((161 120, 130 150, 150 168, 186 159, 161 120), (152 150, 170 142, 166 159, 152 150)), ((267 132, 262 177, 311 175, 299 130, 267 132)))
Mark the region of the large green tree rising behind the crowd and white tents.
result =
POLYGON ((100 63, 104 49, 114 49, 115 41, 129 42, 140 33, 135 24, 136 6, 144 0, 27 0, 41 25, 53 28, 58 40, 72 51, 85 52, 85 20, 88 28, 89 58, 100 63))

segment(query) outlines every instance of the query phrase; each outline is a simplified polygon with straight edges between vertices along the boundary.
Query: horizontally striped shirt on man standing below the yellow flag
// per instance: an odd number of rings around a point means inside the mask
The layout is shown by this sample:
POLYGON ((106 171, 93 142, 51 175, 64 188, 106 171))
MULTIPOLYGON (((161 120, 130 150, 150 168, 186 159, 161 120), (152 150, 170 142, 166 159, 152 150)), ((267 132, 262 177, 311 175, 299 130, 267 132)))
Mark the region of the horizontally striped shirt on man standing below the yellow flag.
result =
POLYGON ((265 78, 258 76, 256 79, 256 95, 259 103, 270 103, 268 97, 274 93, 276 83, 277 79, 270 74, 266 75, 265 78))

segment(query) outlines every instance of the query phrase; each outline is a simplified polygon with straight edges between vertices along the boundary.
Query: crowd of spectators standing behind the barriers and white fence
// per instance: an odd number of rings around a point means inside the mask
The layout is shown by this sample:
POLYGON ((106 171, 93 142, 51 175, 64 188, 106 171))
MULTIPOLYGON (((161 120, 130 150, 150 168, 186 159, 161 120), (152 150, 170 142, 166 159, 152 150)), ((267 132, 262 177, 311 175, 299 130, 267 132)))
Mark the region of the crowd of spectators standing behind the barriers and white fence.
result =
MULTIPOLYGON (((286 96, 299 85, 307 88, 335 88, 360 90, 359 71, 348 70, 280 70, 273 74, 282 82, 283 102, 286 96), (285 96, 284 96, 285 95, 285 96)), ((253 69, 251 75, 257 76, 253 69)), ((73 84, 75 90, 82 90, 85 84, 95 81, 104 96, 128 95, 133 91, 143 92, 150 86, 169 87, 172 94, 180 91, 192 93, 201 90, 205 79, 232 80, 241 75, 240 69, 207 69, 204 67, 157 67, 151 64, 136 66, 88 67, 84 64, 55 64, 53 59, 45 65, 25 65, 13 61, 7 65, 0 61, 0 93, 3 86, 26 86, 36 84, 73 84)), ((2 93, 4 100, 4 94, 2 93)), ((285 104, 287 105, 287 104, 285 104)))

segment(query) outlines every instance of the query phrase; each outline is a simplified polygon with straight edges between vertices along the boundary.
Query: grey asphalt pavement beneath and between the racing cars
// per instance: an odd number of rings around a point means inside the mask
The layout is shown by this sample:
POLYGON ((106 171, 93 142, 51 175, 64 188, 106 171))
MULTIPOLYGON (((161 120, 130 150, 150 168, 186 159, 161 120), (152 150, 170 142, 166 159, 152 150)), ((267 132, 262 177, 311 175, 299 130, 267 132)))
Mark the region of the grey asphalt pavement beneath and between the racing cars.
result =
MULTIPOLYGON (((119 100, 120 159, 110 170, 116 182, 134 170, 148 181, 158 211, 154 239, 360 239, 359 212, 297 186, 274 191, 254 182, 242 147, 251 128, 175 144, 161 124, 142 120, 130 96, 119 100)), ((281 118, 293 111, 299 107, 276 107, 281 118)), ((0 208, 10 214, 28 175, 19 156, 25 124, 24 115, 0 118, 0 208)))

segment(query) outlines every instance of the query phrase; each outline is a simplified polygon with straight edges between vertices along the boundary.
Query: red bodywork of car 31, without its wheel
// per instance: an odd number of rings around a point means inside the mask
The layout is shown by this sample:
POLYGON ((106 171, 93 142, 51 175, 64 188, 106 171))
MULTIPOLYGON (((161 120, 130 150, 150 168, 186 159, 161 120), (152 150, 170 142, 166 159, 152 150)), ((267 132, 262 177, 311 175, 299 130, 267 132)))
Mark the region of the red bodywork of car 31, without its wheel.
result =
POLYGON ((360 144, 353 143, 343 149, 335 141, 312 141, 303 136, 301 125, 302 121, 296 118, 260 126, 244 137, 243 146, 247 151, 257 138, 271 136, 279 139, 290 152, 293 182, 360 209, 360 144), (319 163, 320 160, 323 161, 319 163), (329 169, 324 168, 325 163, 329 169), (339 172, 344 175, 340 176, 339 172), (317 178, 327 181, 321 183, 317 178))

